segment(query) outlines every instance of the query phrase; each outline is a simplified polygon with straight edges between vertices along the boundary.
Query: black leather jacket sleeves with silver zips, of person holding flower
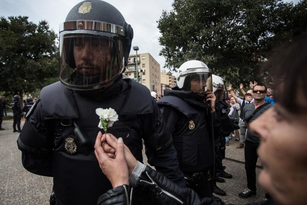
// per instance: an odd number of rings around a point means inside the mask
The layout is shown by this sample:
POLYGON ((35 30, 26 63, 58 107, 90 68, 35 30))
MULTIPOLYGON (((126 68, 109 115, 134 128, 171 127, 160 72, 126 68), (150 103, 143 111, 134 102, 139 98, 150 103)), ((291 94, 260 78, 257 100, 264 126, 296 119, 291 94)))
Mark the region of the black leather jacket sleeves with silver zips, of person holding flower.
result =
POLYGON ((164 175, 148 166, 142 172, 135 187, 130 188, 130 191, 128 191, 125 186, 123 185, 107 191, 100 196, 98 204, 224 205, 223 202, 216 202, 211 198, 200 199, 192 189, 178 187, 164 175))

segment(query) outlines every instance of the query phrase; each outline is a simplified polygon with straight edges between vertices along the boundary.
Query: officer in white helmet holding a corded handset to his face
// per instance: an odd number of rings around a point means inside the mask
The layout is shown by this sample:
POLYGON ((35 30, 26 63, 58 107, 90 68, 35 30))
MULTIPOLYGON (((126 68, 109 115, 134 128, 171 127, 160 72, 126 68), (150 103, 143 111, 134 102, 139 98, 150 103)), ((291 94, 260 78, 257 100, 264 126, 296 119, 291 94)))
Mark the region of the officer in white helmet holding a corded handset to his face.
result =
POLYGON ((219 136, 221 128, 216 118, 211 69, 192 60, 178 70, 177 85, 165 90, 157 104, 173 136, 188 187, 200 197, 213 197, 214 132, 219 136))

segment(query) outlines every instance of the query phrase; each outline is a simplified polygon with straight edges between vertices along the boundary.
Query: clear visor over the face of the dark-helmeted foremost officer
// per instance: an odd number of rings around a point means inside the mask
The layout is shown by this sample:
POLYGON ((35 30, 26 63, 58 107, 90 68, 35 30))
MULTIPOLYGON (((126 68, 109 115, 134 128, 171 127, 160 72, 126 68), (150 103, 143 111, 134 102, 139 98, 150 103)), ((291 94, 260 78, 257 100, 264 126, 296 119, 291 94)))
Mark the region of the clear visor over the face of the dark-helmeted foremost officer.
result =
POLYGON ((110 84, 124 69, 123 42, 124 37, 106 32, 61 32, 60 81, 77 90, 110 84))

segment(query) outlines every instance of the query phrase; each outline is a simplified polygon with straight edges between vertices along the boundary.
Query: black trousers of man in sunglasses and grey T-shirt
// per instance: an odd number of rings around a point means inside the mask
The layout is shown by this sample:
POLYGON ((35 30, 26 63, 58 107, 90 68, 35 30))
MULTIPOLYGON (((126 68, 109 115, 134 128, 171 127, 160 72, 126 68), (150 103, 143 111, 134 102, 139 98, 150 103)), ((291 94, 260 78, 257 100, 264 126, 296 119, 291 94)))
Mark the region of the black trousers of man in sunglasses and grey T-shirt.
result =
POLYGON ((257 148, 259 143, 245 140, 244 156, 245 156, 245 171, 247 178, 247 188, 251 191, 256 191, 256 164, 258 160, 257 148))

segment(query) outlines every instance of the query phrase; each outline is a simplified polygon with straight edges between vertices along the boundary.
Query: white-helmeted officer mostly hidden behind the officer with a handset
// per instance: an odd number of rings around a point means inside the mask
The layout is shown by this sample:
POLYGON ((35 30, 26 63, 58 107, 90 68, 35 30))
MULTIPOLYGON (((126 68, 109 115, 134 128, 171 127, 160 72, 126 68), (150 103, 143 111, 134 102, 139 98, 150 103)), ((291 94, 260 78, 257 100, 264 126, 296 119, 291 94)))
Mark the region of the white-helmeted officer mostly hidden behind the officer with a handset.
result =
POLYGON ((220 120, 222 132, 220 132, 219 136, 216 137, 216 160, 215 160, 215 177, 214 177, 214 193, 218 195, 226 195, 226 192, 220 189, 216 182, 223 183, 225 182, 225 179, 223 178, 232 178, 231 174, 228 174, 224 171, 226 168, 222 164, 222 160, 225 159, 225 149, 226 149, 226 140, 225 136, 229 136, 229 134, 235 129, 233 127, 233 124, 231 120, 229 119, 227 115, 227 108, 228 104, 225 101, 225 98, 223 99, 223 93, 225 90, 224 80, 220 76, 216 76, 212 74, 212 84, 213 84, 213 92, 216 96, 216 113, 217 118, 220 120))

